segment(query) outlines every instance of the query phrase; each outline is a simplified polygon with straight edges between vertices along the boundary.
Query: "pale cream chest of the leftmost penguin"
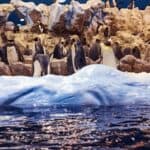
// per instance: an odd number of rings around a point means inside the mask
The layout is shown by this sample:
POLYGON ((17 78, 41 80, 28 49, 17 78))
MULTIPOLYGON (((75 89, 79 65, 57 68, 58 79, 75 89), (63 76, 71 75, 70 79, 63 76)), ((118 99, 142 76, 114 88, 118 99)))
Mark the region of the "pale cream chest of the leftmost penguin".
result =
POLYGON ((19 61, 15 46, 7 47, 7 60, 9 64, 19 61))

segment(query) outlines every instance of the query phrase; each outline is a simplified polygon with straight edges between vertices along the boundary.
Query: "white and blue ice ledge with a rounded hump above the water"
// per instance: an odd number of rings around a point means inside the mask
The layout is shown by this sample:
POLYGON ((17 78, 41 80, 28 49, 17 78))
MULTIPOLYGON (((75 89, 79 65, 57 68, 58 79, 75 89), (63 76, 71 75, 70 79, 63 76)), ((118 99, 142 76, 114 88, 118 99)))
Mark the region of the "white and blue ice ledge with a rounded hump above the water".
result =
POLYGON ((104 65, 70 76, 0 77, 0 106, 100 106, 150 103, 150 74, 129 74, 104 65))

